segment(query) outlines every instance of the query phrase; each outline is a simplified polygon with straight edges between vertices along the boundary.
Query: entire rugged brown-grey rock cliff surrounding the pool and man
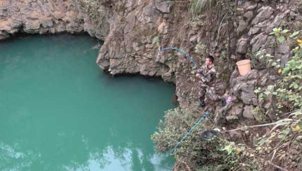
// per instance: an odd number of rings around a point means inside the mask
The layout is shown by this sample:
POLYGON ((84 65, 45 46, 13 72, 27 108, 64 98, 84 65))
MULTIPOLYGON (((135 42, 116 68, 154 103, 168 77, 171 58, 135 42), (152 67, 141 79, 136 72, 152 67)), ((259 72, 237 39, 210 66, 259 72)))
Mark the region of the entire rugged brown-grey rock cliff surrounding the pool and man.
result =
MULTIPOLYGON (((190 20, 187 5, 164 0, 99 0, 98 14, 82 0, 2 0, 0 1, 0 39, 15 33, 79 33, 104 40, 97 64, 112 75, 140 74, 162 77, 176 85, 176 95, 181 106, 198 101, 196 68, 181 53, 160 51, 167 46, 179 47, 192 56, 200 66, 207 54, 215 57, 217 81, 232 68, 227 57, 229 48, 226 23, 207 23, 206 15, 190 20), (182 13, 185 11, 184 13, 182 13), (94 19, 94 20, 91 20, 94 19), (94 22, 97 20, 98 22, 94 22), (188 22, 190 21, 190 22, 188 22)), ((295 4, 243 1, 234 16, 234 34, 230 39, 232 60, 250 58, 251 52, 267 49, 281 59, 288 60, 287 43, 272 47, 276 40, 272 29, 294 26, 301 29, 301 15, 295 4), (291 10, 288 10, 291 9, 291 10)), ((220 21, 219 21, 220 23, 220 21)), ((233 68, 234 69, 234 68, 233 68)), ((235 69, 236 70, 236 69, 235 69)), ((231 79, 234 95, 244 105, 258 105, 253 89, 266 85, 271 79, 259 78, 262 71, 253 70, 247 76, 231 79)), ((264 76, 264 75, 262 75, 264 76)), ((221 87, 223 94, 225 87, 221 87)), ((263 104, 265 105, 265 104, 263 104)), ((242 107, 244 108, 244 106, 242 107)), ((242 114, 240 114, 242 115, 242 114)), ((240 116, 239 115, 239 116, 240 116)))

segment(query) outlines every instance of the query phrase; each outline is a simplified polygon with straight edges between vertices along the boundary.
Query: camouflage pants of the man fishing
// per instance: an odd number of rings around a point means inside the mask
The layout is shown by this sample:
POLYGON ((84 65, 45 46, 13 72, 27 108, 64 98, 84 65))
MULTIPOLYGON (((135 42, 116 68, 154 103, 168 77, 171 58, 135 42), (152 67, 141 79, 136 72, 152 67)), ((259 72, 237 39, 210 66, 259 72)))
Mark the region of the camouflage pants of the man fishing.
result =
POLYGON ((217 94, 217 91, 215 90, 214 87, 199 86, 198 95, 199 95, 201 104, 204 104, 205 95, 207 95, 208 99, 211 101, 219 101, 222 99, 217 94))

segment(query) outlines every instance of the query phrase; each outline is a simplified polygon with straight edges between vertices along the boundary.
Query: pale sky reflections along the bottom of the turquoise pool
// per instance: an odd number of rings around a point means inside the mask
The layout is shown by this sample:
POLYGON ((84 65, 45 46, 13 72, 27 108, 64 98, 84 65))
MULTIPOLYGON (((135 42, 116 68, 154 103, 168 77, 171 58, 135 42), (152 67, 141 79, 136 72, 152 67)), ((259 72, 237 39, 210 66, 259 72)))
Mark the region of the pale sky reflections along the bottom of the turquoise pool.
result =
MULTIPOLYGON (((84 143, 87 141, 85 140, 84 143)), ((130 143, 129 143, 130 144, 130 143)), ((131 145, 130 145, 131 146, 131 145)), ((70 160, 61 163, 61 167, 53 167, 48 161, 44 161, 39 151, 17 151, 15 147, 0 143, 0 168, 2 170, 27 170, 33 168, 36 163, 43 163, 43 170, 169 170, 170 162, 165 161, 167 156, 158 153, 143 153, 143 150, 135 147, 113 147, 90 151, 87 144, 86 156, 83 160, 70 160), (35 152, 34 152, 35 151, 35 152), (18 163, 18 164, 12 164, 18 163)), ((75 149, 75 151, 77 151, 75 149)))

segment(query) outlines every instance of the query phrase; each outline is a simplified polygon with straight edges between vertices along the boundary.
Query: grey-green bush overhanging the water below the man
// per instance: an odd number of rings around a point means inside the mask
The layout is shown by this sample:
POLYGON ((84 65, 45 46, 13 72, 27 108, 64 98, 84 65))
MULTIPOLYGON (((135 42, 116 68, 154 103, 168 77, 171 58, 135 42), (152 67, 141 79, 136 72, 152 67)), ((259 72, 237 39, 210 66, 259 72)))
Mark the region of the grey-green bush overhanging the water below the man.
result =
MULTIPOLYGON (((170 152, 200 117, 201 114, 190 106, 168 110, 165 120, 160 122, 158 131, 152 135, 152 140, 156 143, 156 149, 163 153, 170 152)), ((200 133, 211 128, 213 128, 212 123, 204 120, 173 152, 175 158, 177 158, 176 169, 228 170, 234 166, 237 156, 235 153, 228 154, 225 151, 223 135, 219 135, 221 138, 211 140, 201 139, 200 133)))

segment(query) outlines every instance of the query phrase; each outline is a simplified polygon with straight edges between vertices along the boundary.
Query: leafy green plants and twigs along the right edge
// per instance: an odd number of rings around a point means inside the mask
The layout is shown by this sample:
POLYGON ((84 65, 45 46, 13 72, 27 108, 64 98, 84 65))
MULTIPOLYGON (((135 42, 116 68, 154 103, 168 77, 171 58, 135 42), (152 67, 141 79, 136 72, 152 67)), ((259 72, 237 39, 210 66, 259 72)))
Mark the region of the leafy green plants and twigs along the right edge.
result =
POLYGON ((271 66, 276 67, 280 76, 274 88, 255 90, 259 99, 273 95, 279 111, 275 114, 282 120, 258 139, 257 148, 252 153, 264 159, 257 161, 263 168, 301 170, 302 154, 298 151, 302 150, 302 41, 296 39, 299 32, 290 33, 281 28, 273 31, 271 34, 276 36, 278 43, 293 41, 296 46, 292 48, 293 56, 284 68, 278 66, 278 61, 271 61, 271 66))

